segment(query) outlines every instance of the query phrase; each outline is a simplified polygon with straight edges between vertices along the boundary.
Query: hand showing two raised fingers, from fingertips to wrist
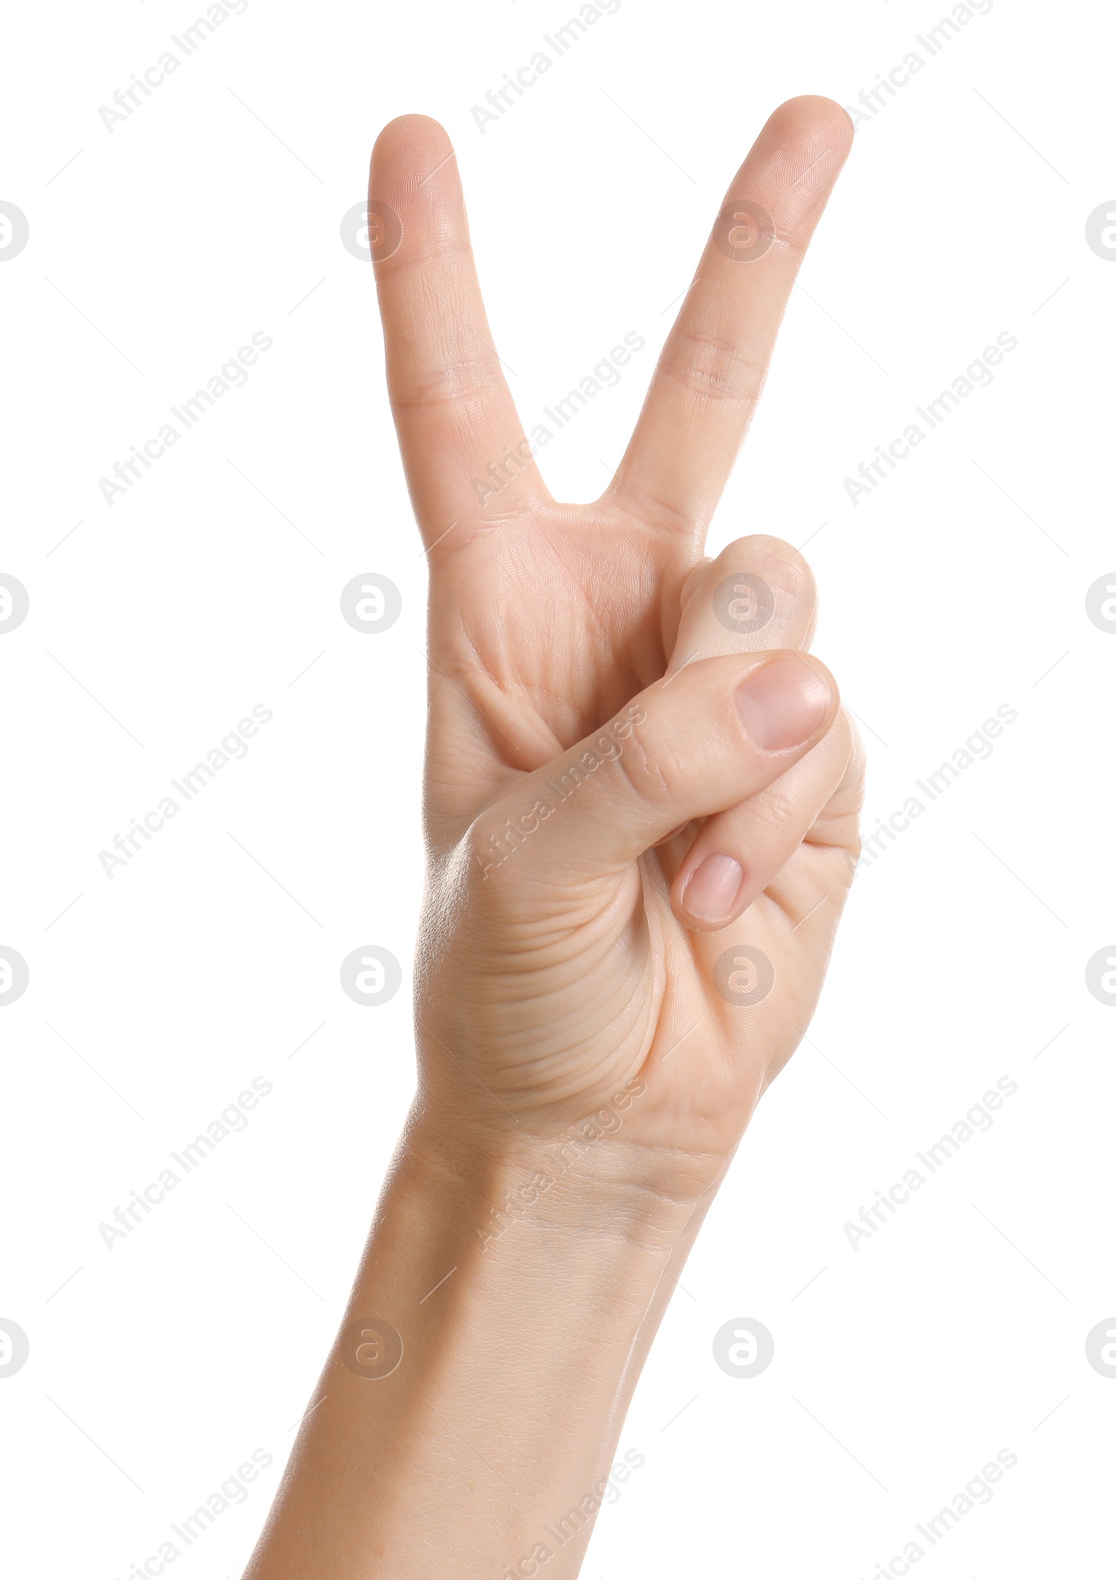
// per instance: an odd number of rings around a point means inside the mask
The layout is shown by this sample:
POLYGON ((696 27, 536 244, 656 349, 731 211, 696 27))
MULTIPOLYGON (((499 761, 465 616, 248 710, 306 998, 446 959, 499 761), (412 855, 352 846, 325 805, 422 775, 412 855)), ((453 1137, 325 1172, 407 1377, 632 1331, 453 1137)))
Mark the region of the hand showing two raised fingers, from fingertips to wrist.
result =
POLYGON ((850 142, 828 100, 768 120, 591 506, 556 504, 531 460, 444 131, 405 117, 376 144, 370 198, 402 221, 378 264, 387 378, 430 558, 420 1112, 473 1147, 534 1146, 637 1079, 613 1164, 700 1194, 812 1014, 862 752, 808 654, 801 556, 702 545, 850 142))

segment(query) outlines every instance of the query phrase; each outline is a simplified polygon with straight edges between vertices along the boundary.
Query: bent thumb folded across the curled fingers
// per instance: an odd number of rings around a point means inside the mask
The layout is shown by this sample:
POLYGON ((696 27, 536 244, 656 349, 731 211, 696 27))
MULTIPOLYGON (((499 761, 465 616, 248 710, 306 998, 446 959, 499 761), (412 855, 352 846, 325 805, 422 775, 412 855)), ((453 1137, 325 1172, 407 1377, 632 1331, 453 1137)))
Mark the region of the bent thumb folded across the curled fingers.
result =
POLYGON ((836 711, 836 683, 808 653, 689 664, 487 807, 469 831, 474 872, 610 877, 691 818, 763 790, 817 744, 836 711))

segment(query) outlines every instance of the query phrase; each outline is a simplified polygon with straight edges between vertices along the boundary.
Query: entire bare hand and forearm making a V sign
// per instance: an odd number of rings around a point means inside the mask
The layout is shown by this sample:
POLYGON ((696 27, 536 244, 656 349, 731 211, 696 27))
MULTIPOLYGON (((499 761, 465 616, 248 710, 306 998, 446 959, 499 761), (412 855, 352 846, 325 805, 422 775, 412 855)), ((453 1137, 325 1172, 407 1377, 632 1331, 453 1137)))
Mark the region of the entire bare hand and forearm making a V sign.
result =
POLYGON ((555 502, 528 458, 446 133, 403 117, 376 142, 370 198, 402 221, 376 265, 387 379, 430 559, 419 1089, 245 1580, 580 1567, 858 853, 862 750, 808 653, 808 567, 773 537, 702 558, 850 142, 828 100, 768 120, 729 196, 767 210, 773 245, 710 242, 590 506, 555 502), (493 461, 501 487, 476 487, 493 461), (756 607, 741 575, 770 589, 757 629, 718 618, 726 585, 737 616, 756 607), (402 1360, 356 1375, 360 1343, 390 1352, 383 1324, 402 1360))

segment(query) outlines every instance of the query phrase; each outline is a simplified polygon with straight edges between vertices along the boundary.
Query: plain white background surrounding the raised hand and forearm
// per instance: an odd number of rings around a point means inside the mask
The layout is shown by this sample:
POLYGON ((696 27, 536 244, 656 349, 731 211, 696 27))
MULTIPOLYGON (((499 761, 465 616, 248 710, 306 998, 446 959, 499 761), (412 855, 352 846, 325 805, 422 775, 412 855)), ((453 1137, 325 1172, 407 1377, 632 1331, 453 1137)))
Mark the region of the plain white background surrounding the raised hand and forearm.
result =
POLYGON ((0 267, 0 570, 30 594, 0 640, 0 943, 30 969, 0 1010, 0 1316, 30 1340, 0 1381, 13 1574, 123 1580, 262 1449, 174 1566, 239 1574, 408 1104, 425 562, 371 270, 340 240, 376 131, 449 130, 526 422, 647 337, 541 455, 588 499, 770 111, 854 104, 912 49, 925 70, 857 128, 710 547, 809 540, 869 831, 999 705, 1018 719, 858 874, 585 1574, 866 1580, 1001 1449, 1018 1465, 918 1572, 1110 1572, 1116 1381, 1084 1335, 1116 1311, 1116 1010, 1084 965, 1116 937, 1116 637, 1084 594, 1116 562, 1116 264, 1084 224, 1116 193, 1111 17, 997 0, 929 58, 931 0, 623 0, 481 133, 471 106, 572 9, 251 0, 112 131, 98 107, 199 11, 8 16, 0 198, 30 224, 0 267), (261 330, 250 382, 109 507, 98 479, 261 330), (844 479, 1004 330, 994 382, 854 507, 844 479), (381 635, 338 611, 364 572, 403 594, 381 635), (256 703, 250 755, 109 878, 98 852, 256 703), (383 1008, 340 989, 365 943, 403 962, 383 1008), (106 1248, 98 1224, 254 1076, 248 1128, 106 1248), (1002 1076, 994 1128, 854 1250, 846 1221, 1002 1076), (775 1335, 751 1381, 711 1356, 735 1316, 775 1335))

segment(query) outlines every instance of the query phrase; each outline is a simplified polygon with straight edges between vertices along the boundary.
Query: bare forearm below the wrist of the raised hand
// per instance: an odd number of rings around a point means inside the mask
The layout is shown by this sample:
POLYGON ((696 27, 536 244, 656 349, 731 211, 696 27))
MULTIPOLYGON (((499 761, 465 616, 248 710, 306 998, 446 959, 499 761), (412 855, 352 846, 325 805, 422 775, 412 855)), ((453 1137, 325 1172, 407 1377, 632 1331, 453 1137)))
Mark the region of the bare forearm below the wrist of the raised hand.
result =
POLYGON ((245 1580, 577 1574, 703 1201, 620 1142, 553 1158, 413 1123, 245 1580), (375 1322, 402 1359, 360 1376, 375 1322))

